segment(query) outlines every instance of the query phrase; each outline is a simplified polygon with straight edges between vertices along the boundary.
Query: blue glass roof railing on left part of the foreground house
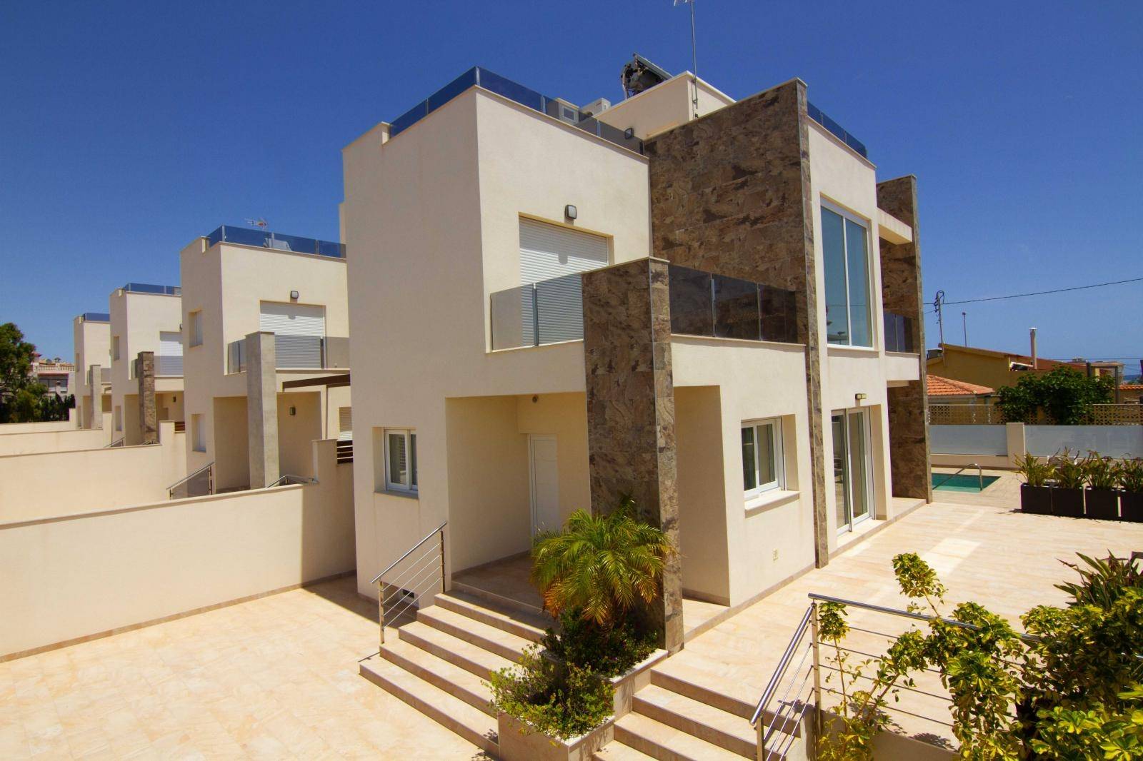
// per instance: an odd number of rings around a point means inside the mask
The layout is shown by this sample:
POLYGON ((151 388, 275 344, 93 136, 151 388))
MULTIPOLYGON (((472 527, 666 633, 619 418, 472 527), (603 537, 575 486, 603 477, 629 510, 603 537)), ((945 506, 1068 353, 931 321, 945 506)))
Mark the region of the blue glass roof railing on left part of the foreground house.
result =
POLYGON ((481 87, 490 93, 503 96, 509 101, 527 106, 533 111, 538 111, 539 113, 545 113, 549 117, 559 119, 563 123, 570 125, 576 129, 582 129, 590 135, 601 137, 609 143, 621 145, 630 151, 634 151, 636 153, 644 152, 642 141, 634 137, 631 133, 604 123, 598 119, 593 119, 582 111, 558 101, 557 98, 542 95, 536 90, 529 89, 518 82, 513 82, 512 80, 501 77, 499 74, 490 72, 481 66, 473 66, 394 119, 389 127, 390 136, 403 133, 406 129, 417 123, 430 113, 458 96, 461 93, 464 93, 470 87, 481 87))

